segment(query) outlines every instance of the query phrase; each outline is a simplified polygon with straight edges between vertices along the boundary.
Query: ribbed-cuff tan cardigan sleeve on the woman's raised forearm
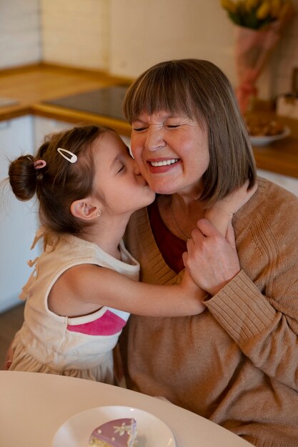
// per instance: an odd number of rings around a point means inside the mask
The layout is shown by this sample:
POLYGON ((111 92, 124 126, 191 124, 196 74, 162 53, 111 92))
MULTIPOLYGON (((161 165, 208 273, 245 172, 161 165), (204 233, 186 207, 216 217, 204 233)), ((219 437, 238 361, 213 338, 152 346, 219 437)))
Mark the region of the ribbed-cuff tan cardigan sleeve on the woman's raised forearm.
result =
POLYGON ((298 391, 298 299, 286 313, 241 271, 205 304, 254 366, 298 391))

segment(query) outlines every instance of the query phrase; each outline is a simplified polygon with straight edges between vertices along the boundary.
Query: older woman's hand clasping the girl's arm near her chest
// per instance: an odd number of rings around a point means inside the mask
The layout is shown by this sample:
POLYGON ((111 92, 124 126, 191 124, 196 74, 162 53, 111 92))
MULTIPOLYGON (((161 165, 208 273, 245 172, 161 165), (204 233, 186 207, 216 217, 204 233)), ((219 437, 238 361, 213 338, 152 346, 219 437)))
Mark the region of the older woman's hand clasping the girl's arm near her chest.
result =
POLYGON ((197 226, 187 241, 184 266, 198 286, 215 295, 240 271, 234 229, 231 224, 224 238, 207 219, 197 226))

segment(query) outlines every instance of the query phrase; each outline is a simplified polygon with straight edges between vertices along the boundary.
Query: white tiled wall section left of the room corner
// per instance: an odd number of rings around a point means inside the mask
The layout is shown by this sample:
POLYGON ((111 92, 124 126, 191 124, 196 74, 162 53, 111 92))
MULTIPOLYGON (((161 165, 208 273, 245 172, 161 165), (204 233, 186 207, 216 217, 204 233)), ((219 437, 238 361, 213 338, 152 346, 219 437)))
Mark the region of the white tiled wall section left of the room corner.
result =
POLYGON ((0 0, 0 69, 41 58, 39 0, 0 0))

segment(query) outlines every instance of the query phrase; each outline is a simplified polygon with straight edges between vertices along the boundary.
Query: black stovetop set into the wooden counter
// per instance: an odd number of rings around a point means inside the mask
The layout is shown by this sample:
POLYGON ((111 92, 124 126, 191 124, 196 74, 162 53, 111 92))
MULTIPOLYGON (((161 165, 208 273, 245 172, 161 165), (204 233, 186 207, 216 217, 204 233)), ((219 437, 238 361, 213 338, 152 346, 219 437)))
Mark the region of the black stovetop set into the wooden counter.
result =
POLYGON ((91 114, 125 120, 122 104, 128 86, 111 86, 62 98, 43 101, 46 104, 86 111, 91 114))

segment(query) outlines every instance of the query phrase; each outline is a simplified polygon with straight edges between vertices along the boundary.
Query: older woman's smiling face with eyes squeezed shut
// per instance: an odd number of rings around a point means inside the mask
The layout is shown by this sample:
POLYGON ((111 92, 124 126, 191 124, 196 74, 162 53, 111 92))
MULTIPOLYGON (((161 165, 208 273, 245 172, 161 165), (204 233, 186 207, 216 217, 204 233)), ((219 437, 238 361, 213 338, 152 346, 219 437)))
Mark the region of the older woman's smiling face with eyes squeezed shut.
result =
POLYGON ((131 151, 153 191, 199 194, 209 166, 207 126, 183 114, 143 112, 132 122, 131 151))

